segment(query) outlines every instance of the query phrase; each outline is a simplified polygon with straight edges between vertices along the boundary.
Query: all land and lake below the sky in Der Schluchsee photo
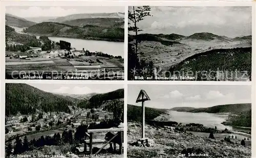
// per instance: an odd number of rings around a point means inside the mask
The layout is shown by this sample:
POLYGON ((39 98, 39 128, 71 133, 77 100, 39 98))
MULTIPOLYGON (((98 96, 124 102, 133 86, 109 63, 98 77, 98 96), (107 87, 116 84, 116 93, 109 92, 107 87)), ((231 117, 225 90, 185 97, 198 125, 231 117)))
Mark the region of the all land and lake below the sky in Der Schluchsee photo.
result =
MULTIPOLYGON (((149 147, 141 147, 134 145, 141 137, 141 117, 138 115, 141 107, 128 105, 127 157, 183 157, 181 154, 188 153, 205 154, 203 157, 250 157, 251 125, 243 124, 245 118, 241 119, 247 110, 251 110, 250 104, 218 105, 209 108, 146 107, 145 137, 154 143, 149 147), (241 111, 241 114, 236 110, 241 111), (236 127, 235 122, 223 125, 222 122, 230 117, 232 121, 240 122, 243 127, 236 127), (212 130, 214 139, 209 138, 212 130), (230 141, 226 141, 227 139, 230 141), (241 140, 245 140, 245 146, 241 145, 241 140)), ((251 121, 250 116, 248 114, 246 117, 248 124, 251 121)))

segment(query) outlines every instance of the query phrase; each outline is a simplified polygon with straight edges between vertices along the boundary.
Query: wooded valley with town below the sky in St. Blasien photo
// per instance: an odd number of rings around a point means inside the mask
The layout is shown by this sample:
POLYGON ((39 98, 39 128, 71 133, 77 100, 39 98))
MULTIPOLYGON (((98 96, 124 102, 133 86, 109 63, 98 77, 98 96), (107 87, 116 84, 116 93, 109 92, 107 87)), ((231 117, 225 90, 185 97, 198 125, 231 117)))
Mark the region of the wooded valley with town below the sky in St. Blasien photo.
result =
MULTIPOLYGON (((102 94, 62 95, 28 84, 7 84, 6 154, 88 154, 82 143, 88 139, 84 135, 87 129, 122 128, 123 95, 123 89, 102 94), (44 143, 40 143, 42 140, 44 143), (22 150, 17 149, 19 141, 22 150)), ((94 134, 94 139, 103 140, 104 134, 94 134)), ((94 146, 94 150, 97 147, 101 145, 94 146)), ((121 156, 111 153, 106 146, 99 154, 121 156)))

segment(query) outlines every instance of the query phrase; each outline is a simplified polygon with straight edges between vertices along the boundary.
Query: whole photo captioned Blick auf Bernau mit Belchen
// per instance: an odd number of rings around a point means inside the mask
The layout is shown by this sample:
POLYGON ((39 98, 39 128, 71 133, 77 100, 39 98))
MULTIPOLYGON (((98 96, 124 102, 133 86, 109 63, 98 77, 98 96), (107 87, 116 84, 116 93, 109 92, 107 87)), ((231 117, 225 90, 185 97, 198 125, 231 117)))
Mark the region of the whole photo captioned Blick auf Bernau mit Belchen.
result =
POLYGON ((128 80, 251 81, 251 11, 130 6, 128 80))

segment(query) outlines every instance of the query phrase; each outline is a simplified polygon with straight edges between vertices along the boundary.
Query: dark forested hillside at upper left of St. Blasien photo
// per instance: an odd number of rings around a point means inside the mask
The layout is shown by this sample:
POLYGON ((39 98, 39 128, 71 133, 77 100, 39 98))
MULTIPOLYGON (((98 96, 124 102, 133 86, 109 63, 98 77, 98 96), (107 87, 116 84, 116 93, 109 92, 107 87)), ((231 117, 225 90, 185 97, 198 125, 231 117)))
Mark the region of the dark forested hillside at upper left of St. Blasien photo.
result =
POLYGON ((68 106, 74 105, 70 99, 54 95, 24 83, 6 84, 6 116, 33 114, 39 111, 70 112, 68 106))

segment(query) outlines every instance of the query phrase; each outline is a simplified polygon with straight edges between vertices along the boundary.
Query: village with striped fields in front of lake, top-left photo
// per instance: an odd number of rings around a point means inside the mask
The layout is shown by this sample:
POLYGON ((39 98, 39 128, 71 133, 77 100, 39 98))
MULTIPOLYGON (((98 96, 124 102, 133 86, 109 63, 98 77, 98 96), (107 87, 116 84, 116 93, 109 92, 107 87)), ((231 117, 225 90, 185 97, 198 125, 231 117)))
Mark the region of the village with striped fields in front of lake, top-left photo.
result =
POLYGON ((56 43, 52 44, 55 46, 49 51, 42 48, 30 48, 25 52, 6 51, 6 77, 13 78, 10 75, 13 73, 17 75, 19 71, 25 73, 36 71, 42 74, 76 72, 96 78, 106 76, 112 79, 124 77, 124 60, 121 56, 90 52, 84 48, 82 50, 61 48, 56 43))

